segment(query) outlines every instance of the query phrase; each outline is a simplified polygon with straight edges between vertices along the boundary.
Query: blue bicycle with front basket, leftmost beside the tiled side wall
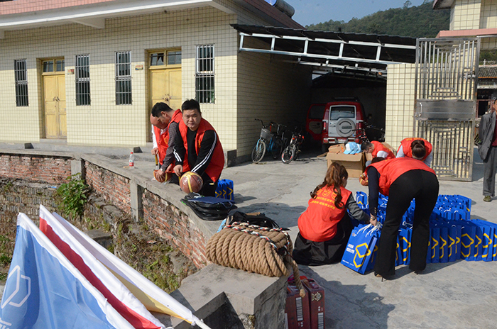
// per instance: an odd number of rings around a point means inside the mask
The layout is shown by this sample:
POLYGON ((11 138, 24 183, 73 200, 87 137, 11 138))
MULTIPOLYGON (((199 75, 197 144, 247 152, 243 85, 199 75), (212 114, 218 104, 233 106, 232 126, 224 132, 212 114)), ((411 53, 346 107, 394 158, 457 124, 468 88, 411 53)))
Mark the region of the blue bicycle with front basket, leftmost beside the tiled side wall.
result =
POLYGON ((285 126, 280 123, 270 122, 267 126, 264 126, 264 123, 261 119, 255 119, 256 121, 261 121, 261 137, 257 140, 256 145, 252 150, 252 162, 258 163, 260 162, 264 155, 266 155, 266 151, 271 152, 273 155, 273 159, 278 159, 281 155, 281 151, 283 150, 283 132, 285 131, 285 126), (276 132, 273 133, 273 128, 276 129, 276 132))

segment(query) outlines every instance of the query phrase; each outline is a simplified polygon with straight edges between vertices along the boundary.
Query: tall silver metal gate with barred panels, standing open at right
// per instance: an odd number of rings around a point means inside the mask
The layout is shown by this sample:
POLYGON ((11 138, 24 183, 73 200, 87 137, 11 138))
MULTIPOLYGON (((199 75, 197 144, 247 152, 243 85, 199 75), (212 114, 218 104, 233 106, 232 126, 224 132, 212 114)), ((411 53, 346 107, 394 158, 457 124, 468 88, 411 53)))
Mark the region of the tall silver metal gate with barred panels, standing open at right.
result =
POLYGON ((414 134, 433 145, 439 179, 471 181, 479 38, 420 38, 414 134))

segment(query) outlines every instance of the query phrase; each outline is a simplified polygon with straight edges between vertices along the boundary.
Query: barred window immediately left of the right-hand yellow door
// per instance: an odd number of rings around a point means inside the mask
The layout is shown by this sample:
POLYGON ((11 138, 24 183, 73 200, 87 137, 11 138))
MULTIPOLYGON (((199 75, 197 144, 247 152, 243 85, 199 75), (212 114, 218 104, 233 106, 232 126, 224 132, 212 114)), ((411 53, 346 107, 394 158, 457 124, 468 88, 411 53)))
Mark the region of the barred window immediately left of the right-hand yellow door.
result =
POLYGON ((116 52, 116 105, 131 104, 131 52, 116 52))

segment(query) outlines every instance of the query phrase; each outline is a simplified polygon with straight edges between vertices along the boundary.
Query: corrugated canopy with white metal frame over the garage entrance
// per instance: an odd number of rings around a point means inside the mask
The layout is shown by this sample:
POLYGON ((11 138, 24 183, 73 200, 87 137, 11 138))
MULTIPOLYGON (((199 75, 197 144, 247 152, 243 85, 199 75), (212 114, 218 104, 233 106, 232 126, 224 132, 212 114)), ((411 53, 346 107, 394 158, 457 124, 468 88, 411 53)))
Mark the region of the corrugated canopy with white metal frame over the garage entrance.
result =
POLYGON ((241 51, 297 57, 302 64, 356 67, 383 72, 386 65, 414 63, 416 39, 391 35, 297 30, 271 26, 232 24, 241 35, 241 51), (267 47, 247 48, 246 38, 262 40, 267 47))

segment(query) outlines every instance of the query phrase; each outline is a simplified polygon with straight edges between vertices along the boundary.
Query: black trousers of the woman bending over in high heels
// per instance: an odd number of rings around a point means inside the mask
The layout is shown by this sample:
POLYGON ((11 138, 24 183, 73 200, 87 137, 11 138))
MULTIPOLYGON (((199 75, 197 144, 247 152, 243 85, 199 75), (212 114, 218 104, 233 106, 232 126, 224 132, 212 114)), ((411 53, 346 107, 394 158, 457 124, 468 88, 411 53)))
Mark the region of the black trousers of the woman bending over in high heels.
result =
POLYGON ((400 175, 390 187, 386 218, 381 230, 378 255, 374 272, 383 277, 395 274, 397 236, 402 216, 415 199, 413 235, 410 246, 410 265, 413 271, 426 267, 428 240, 430 239, 430 215, 437 203, 439 184, 435 174, 425 170, 410 170, 400 175))

